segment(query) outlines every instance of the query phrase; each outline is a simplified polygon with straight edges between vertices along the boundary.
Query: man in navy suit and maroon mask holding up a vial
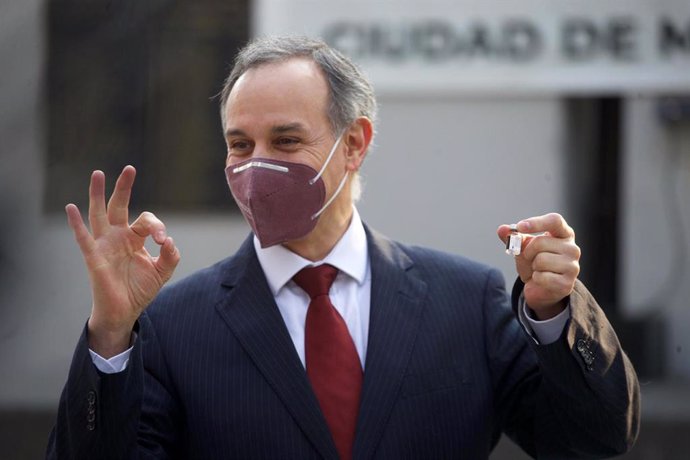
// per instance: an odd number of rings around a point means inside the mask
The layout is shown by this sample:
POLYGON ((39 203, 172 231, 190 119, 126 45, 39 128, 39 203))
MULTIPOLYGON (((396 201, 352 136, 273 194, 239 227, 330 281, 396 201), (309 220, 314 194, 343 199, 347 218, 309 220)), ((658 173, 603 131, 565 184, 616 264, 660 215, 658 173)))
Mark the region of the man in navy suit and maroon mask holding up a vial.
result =
POLYGON ((129 224, 131 166, 107 206, 92 175, 91 233, 66 208, 93 307, 49 457, 481 459, 501 432, 539 458, 632 445, 637 380, 559 215, 518 224, 540 234, 516 257, 526 333, 496 270, 362 224, 376 104, 348 59, 255 41, 221 111, 228 184, 254 230, 232 257, 159 293, 180 254, 153 214, 129 224))

